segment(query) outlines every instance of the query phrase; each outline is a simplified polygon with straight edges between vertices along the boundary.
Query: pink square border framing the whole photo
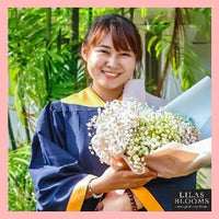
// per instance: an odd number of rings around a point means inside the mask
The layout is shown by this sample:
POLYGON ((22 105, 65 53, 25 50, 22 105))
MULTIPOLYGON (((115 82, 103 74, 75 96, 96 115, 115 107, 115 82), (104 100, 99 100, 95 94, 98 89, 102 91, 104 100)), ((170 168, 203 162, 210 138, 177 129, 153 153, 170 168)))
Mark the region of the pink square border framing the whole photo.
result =
POLYGON ((1 80, 0 80, 0 131, 1 136, 1 152, 0 152, 0 173, 1 173, 1 185, 0 185, 0 216, 5 219, 39 219, 39 218, 53 218, 53 219, 77 219, 77 218, 219 218, 219 101, 217 95, 219 94, 219 65, 217 51, 219 51, 219 2, 218 0, 1 0, 0 8, 0 66, 1 66, 1 80), (212 8, 212 210, 210 212, 10 212, 7 206, 7 157, 8 157, 8 116, 7 116, 7 104, 8 104, 8 8, 41 8, 41 7, 93 7, 93 8, 123 8, 123 7, 148 7, 148 8, 212 8))

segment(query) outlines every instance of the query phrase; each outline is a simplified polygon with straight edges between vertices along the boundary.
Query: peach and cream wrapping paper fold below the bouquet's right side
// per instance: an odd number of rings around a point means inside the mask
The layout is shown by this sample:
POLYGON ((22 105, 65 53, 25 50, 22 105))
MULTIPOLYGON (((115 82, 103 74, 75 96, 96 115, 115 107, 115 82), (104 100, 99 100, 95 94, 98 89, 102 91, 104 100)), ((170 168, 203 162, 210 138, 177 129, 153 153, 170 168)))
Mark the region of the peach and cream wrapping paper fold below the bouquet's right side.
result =
POLYGON ((178 177, 191 174, 211 161, 211 138, 189 146, 170 142, 146 155, 147 168, 160 177, 178 177))

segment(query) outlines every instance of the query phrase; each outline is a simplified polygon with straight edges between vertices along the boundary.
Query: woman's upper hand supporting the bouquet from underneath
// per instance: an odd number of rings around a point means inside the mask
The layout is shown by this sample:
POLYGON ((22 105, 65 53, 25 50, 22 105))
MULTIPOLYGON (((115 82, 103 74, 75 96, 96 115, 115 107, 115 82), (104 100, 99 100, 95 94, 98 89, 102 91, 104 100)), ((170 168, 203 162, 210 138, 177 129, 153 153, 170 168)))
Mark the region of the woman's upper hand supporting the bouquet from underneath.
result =
POLYGON ((108 168, 100 177, 91 182, 91 187, 95 194, 108 193, 115 189, 139 187, 155 177, 157 173, 152 171, 138 175, 129 169, 114 170, 113 168, 108 168))

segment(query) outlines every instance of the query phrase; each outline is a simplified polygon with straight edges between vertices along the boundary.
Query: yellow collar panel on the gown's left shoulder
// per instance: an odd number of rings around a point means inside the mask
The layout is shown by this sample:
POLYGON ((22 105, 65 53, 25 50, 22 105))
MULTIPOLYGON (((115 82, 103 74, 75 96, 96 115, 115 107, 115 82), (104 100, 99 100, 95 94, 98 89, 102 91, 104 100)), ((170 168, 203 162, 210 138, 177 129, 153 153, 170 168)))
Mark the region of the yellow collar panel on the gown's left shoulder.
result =
POLYGON ((61 102, 91 107, 101 107, 105 104, 105 102, 91 88, 87 88, 79 93, 61 99, 61 102))

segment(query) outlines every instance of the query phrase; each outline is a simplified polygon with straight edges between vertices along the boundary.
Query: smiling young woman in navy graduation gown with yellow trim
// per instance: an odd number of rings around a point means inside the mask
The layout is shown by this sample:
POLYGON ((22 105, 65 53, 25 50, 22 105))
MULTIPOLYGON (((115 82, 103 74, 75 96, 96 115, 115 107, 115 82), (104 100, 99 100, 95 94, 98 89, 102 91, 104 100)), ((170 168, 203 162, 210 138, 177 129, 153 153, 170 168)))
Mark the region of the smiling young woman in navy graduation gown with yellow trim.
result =
MULTIPOLYGON (((137 27, 116 14, 97 19, 81 56, 92 84, 49 103, 38 118, 30 164, 37 210, 171 210, 172 191, 195 188, 195 174, 171 180, 152 171, 136 175, 102 164, 89 150, 87 123, 106 101, 123 99, 124 87, 140 64, 137 27), (115 189, 126 192, 104 199, 115 189)), ((163 105, 162 100, 149 99, 151 105, 163 105)))

